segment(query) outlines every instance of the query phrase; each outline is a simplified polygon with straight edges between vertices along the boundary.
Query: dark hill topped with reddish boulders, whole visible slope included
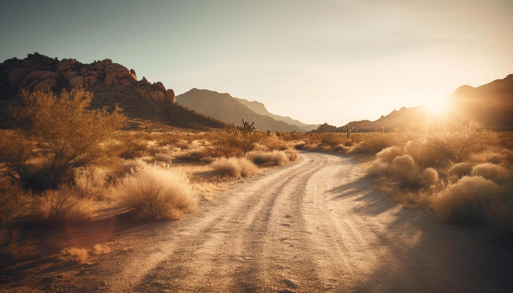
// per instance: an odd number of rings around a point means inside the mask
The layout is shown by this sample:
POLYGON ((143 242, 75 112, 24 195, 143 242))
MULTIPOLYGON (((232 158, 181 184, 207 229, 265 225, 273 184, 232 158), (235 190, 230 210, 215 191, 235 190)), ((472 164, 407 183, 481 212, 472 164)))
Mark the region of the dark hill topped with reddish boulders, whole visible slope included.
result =
POLYGON ((5 110, 21 102, 22 89, 29 91, 85 87, 94 92, 92 107, 119 104, 136 127, 140 122, 159 122, 169 126, 210 129, 222 128, 221 121, 196 113, 175 103, 172 89, 161 82, 150 83, 143 77, 137 80, 133 69, 113 63, 110 59, 84 64, 75 59, 34 53, 23 60, 11 58, 0 64, 0 123, 8 124, 5 110))

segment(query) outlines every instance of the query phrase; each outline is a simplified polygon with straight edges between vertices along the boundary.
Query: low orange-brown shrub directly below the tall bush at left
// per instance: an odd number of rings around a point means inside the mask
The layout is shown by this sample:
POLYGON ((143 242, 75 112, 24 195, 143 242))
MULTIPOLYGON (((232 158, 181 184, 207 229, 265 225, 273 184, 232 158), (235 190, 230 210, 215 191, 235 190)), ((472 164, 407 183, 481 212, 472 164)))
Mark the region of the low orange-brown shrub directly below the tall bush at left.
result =
POLYGON ((92 201, 78 198, 67 186, 45 190, 36 200, 38 220, 82 222, 90 220, 94 213, 92 201))

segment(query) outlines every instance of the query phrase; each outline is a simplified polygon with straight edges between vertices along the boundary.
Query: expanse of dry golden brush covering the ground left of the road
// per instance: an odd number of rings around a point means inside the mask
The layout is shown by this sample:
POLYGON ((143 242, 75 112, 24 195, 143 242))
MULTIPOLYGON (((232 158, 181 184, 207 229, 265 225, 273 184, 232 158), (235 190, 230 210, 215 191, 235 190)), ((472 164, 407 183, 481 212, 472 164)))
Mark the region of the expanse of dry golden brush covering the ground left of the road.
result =
MULTIPOLYGON (((181 219, 229 182, 297 159, 294 142, 262 132, 122 131, 122 109, 95 110, 83 89, 24 92, 0 130, 0 263, 30 253, 31 227, 86 224, 107 202, 136 220, 181 219)), ((95 255, 110 247, 98 244, 95 255)), ((88 250, 65 248, 84 262, 88 250)))

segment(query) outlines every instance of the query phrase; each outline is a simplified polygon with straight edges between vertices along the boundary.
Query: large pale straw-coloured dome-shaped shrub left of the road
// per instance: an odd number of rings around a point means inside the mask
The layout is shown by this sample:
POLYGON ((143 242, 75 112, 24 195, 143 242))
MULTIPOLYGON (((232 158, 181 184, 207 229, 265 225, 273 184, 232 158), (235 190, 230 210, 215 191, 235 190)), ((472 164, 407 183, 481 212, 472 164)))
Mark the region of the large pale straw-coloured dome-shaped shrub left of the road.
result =
POLYGON ((197 200, 188 177, 172 168, 145 165, 127 174, 117 187, 122 206, 143 220, 180 219, 197 200))

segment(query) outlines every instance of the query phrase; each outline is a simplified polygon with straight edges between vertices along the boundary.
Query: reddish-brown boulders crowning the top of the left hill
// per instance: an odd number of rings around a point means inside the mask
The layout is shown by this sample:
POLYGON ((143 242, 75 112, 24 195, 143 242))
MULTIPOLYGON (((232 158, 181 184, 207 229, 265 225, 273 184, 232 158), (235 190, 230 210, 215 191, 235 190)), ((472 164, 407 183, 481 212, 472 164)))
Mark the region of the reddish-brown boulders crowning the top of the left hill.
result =
POLYGON ((137 81, 135 70, 111 59, 83 64, 72 58, 58 60, 34 53, 23 60, 14 57, 0 64, 0 100, 16 96, 22 89, 88 88, 98 83, 130 87, 144 99, 175 103, 172 89, 166 90, 161 82, 151 84, 145 77, 137 81))

